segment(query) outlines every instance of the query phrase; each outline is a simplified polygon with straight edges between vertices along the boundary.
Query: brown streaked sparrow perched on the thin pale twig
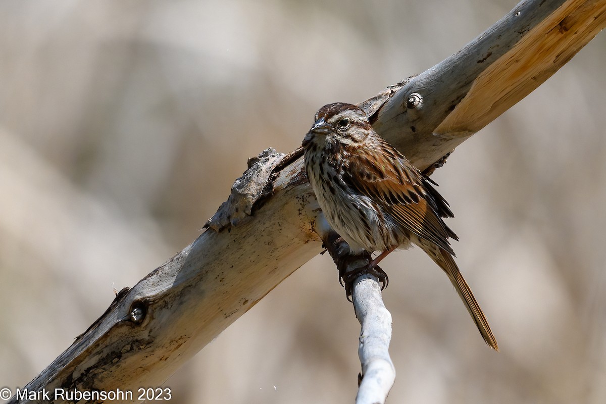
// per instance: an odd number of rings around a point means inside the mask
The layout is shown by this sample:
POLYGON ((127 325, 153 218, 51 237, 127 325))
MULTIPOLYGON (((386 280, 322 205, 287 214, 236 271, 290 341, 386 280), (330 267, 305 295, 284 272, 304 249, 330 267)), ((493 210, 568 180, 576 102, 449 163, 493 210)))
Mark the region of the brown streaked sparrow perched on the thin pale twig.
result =
POLYGON ((325 105, 305 135, 305 170, 328 224, 352 254, 381 251, 368 268, 396 248, 418 245, 448 275, 485 342, 498 350, 488 321, 459 268, 442 217, 448 203, 419 170, 371 127, 356 105, 325 105))

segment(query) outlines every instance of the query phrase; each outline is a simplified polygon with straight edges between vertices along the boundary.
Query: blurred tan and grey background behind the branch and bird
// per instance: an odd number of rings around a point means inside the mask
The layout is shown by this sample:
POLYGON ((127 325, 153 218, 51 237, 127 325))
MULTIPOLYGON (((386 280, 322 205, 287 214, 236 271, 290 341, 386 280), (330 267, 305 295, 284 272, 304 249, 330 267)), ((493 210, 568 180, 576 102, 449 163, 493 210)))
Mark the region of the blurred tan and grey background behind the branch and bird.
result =
MULTIPOLYGON (((317 108, 456 52, 511 0, 0 3, 0 386, 24 386, 190 243, 246 159, 317 108)), ((502 352, 433 262, 384 268, 392 403, 606 401, 606 37, 433 179, 502 352)), ((328 256, 178 371, 172 403, 353 402, 359 324, 328 256)))

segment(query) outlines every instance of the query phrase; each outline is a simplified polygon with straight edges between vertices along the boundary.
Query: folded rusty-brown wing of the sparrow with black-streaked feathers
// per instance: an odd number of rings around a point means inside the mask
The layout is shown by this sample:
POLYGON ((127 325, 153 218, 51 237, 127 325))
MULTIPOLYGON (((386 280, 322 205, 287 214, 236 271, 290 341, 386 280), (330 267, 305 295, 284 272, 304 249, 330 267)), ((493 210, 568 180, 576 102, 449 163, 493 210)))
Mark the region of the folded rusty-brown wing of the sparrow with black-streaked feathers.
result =
POLYGON ((452 217, 447 202, 397 150, 385 142, 381 147, 382 153, 375 155, 389 159, 362 161, 358 154, 350 156, 348 184, 378 202, 406 230, 454 255, 448 237, 456 239, 456 234, 441 219, 452 217))

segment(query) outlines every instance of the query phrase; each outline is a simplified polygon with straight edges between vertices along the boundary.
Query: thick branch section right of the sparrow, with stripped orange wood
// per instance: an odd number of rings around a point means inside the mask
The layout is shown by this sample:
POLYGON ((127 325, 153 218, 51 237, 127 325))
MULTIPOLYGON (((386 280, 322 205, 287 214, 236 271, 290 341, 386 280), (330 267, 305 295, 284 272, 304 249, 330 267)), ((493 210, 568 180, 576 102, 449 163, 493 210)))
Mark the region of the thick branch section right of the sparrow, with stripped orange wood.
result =
POLYGON ((522 1, 408 81, 373 127, 425 170, 550 78, 605 25, 605 0, 522 1), (421 96, 416 108, 407 108, 411 94, 421 96))

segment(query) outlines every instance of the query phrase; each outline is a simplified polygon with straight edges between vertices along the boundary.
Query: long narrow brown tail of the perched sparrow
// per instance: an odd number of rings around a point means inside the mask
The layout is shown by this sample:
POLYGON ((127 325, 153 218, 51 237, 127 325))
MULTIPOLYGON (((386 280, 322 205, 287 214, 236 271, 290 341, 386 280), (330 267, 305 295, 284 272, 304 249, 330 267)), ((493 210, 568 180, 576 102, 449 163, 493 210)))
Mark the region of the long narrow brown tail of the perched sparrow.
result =
POLYGON ((484 341, 493 348, 495 351, 499 350, 499 346, 494 338, 494 335, 490 329, 490 325, 488 325, 488 320, 482 313, 482 308, 478 304, 478 301, 475 297, 473 297, 473 293, 463 279, 461 272, 459 271, 459 267, 457 267, 456 262, 454 262, 453 257, 448 253, 448 251, 439 248, 436 245, 432 245, 429 247, 428 245, 424 245, 422 243, 420 247, 431 257, 439 266, 444 270, 444 272, 448 275, 448 279, 452 282, 454 289, 456 289, 457 293, 465 303, 465 307, 467 307, 467 311, 473 318, 473 321, 478 326, 478 330, 484 341), (433 248, 432 248, 433 247, 433 248))

